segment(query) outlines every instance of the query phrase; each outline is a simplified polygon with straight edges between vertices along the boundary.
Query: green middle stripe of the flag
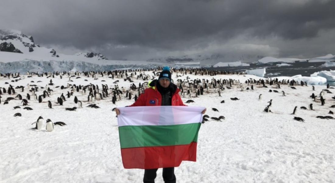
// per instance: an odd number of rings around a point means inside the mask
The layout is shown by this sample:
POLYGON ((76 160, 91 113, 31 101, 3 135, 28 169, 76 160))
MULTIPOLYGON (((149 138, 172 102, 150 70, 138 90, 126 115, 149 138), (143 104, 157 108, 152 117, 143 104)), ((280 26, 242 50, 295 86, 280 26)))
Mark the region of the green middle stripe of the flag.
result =
POLYGON ((197 142, 201 123, 119 127, 121 148, 184 145, 197 142))

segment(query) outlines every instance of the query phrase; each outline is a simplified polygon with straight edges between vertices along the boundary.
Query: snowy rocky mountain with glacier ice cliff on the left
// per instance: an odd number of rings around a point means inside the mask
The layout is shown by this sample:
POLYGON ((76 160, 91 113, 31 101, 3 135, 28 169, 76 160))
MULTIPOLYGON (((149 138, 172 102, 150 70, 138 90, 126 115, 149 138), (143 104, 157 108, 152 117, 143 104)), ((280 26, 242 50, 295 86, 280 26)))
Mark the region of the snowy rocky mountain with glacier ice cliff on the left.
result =
POLYGON ((153 68, 171 64, 108 60, 101 53, 65 55, 35 44, 32 36, 0 29, 0 72, 106 71, 121 68, 153 68))

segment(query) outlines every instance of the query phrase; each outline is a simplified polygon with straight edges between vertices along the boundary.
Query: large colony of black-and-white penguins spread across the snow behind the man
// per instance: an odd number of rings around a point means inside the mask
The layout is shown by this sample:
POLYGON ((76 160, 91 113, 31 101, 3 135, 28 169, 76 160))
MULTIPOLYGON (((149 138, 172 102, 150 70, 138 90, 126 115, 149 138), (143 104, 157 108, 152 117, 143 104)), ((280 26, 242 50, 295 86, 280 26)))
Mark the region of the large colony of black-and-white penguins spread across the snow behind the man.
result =
MULTIPOLYGON (((148 82, 154 80, 159 76, 162 68, 154 69, 136 69, 136 70, 116 70, 116 71, 102 71, 102 72, 48 72, 48 73, 25 73, 26 75, 21 75, 20 73, 0 73, 0 79, 6 80, 5 85, 0 86, 0 104, 6 105, 9 103, 15 103, 14 110, 34 110, 35 105, 44 105, 50 110, 54 110, 55 106, 57 109, 63 108, 64 111, 77 111, 84 107, 98 109, 100 108, 96 102, 100 100, 107 100, 111 102, 114 106, 117 106, 117 101, 120 100, 130 100, 136 101, 137 98, 144 92, 148 87, 148 82), (45 86, 41 86, 38 83, 39 78, 47 78, 49 83, 45 86), (100 80, 101 82, 106 82, 100 86, 87 83, 86 85, 76 84, 76 80, 88 81, 85 78, 94 78, 95 80, 100 80), (53 79, 67 80, 67 85, 56 86, 53 83, 53 79), (20 80, 26 81, 25 85, 15 86, 15 82, 20 80), (38 81, 36 81, 38 80, 38 81), (134 80, 139 81, 138 85, 134 84, 134 80), (10 82, 10 84, 9 84, 10 82), (129 83, 129 87, 119 87, 120 82, 129 83), (57 100, 53 100, 54 91, 61 91, 61 94, 57 96, 57 100), (79 100, 80 98, 81 100, 79 100), (85 98, 83 100, 83 98, 85 98), (72 107, 62 107, 63 104, 70 103, 72 107)), ((175 76, 176 80, 174 82, 178 88, 181 90, 180 95, 183 99, 187 100, 185 103, 196 103, 194 98, 200 97, 201 95, 216 94, 218 97, 223 97, 226 95, 226 90, 238 89, 241 92, 255 91, 258 88, 271 88, 268 91, 273 93, 279 93, 282 97, 289 94, 289 90, 295 90, 297 87, 308 87, 306 82, 297 82, 294 80, 278 80, 278 79, 247 79, 244 83, 240 80, 233 79, 216 79, 219 75, 244 75, 244 72, 227 72, 227 71, 215 71, 199 68, 180 68, 172 69, 171 71, 175 76), (178 79, 182 76, 186 76, 186 79, 178 79), (211 79, 199 79, 197 76, 210 76, 211 79), (192 79, 191 79, 192 78, 192 79), (279 91, 278 91, 279 90, 279 91), (286 92, 284 91, 286 90, 286 92)), ((325 106, 326 101, 331 101, 335 99, 327 98, 332 92, 329 84, 325 86, 325 89, 320 91, 320 93, 315 94, 315 87, 312 86, 313 93, 311 96, 307 96, 305 106, 292 106, 293 112, 291 115, 296 115, 298 110, 317 110, 314 109, 314 105, 317 107, 325 106)), ((262 90, 264 92, 264 90, 262 90)), ((59 93, 59 92, 57 92, 59 93)), ((247 97, 247 95, 246 95, 247 97)), ((55 98, 55 97, 54 97, 55 98)), ((243 102, 243 98, 237 98, 234 96, 229 97, 232 101, 243 102)), ((258 99, 255 101, 262 101, 262 94, 259 94, 258 99)), ((224 104, 224 100, 221 100, 221 104, 224 104)), ((201 104, 199 104, 201 105, 201 104)), ((266 107, 263 112, 276 113, 276 111, 271 111, 272 99, 267 102, 266 107)), ((209 121, 219 121, 224 120, 225 117, 222 116, 221 111, 217 108, 212 108, 210 106, 205 106, 207 109, 212 109, 212 111, 218 112, 217 117, 209 117, 208 115, 203 116, 203 122, 209 121)), ((331 105, 330 107, 335 107, 331 105)), ((113 108, 115 109, 115 107, 113 108)), ((328 115, 333 115, 330 110, 328 115)), ((20 112, 15 112, 14 117, 22 117, 20 112)), ((331 116, 316 116, 319 119, 333 119, 331 116)), ((300 117, 294 117, 293 120, 304 122, 300 117)), ((32 120, 32 129, 36 130, 46 130, 53 131, 54 125, 64 126, 64 122, 53 123, 50 119, 46 120, 44 124, 44 118, 42 116, 38 117, 34 122, 32 120), (44 128, 45 126, 45 128, 44 128)))

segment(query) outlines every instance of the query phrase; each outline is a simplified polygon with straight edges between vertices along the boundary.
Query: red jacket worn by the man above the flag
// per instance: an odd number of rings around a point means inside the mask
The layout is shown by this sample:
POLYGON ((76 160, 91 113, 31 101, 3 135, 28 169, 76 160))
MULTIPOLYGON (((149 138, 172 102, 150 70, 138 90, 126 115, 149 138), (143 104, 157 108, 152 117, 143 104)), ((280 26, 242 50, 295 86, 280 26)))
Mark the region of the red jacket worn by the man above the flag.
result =
MULTIPOLYGON (((173 83, 171 83, 171 84, 174 85, 173 83)), ((182 99, 180 98, 179 92, 180 92, 180 89, 177 88, 177 86, 176 86, 176 91, 172 95, 171 104, 172 105, 184 105, 184 106, 186 106, 183 103, 182 99)), ((162 101, 162 96, 159 93, 159 91, 157 90, 157 87, 149 86, 149 88, 145 89, 144 93, 142 93, 137 98, 136 102, 134 102, 132 105, 129 105, 129 107, 133 107, 133 106, 160 106, 161 101, 162 101)))

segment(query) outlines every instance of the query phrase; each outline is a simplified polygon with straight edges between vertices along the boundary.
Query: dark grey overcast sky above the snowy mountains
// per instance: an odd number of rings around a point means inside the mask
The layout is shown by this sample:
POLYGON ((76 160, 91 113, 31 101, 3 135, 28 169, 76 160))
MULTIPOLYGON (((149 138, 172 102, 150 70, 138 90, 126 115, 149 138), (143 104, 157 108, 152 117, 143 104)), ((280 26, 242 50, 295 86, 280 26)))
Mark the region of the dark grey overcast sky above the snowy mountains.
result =
POLYGON ((59 53, 335 54, 335 0, 1 0, 0 28, 59 53))

